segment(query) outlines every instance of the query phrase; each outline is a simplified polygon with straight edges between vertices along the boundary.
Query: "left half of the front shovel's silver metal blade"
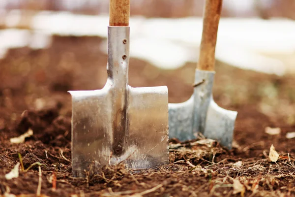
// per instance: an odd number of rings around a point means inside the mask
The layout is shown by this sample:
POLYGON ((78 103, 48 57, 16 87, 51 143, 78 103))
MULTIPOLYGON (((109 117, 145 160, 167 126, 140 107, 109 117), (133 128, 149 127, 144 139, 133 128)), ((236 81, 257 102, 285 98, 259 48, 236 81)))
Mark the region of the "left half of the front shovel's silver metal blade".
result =
POLYGON ((108 164, 112 133, 108 132, 108 94, 104 90, 69 91, 72 96, 72 176, 84 177, 95 161, 108 164))

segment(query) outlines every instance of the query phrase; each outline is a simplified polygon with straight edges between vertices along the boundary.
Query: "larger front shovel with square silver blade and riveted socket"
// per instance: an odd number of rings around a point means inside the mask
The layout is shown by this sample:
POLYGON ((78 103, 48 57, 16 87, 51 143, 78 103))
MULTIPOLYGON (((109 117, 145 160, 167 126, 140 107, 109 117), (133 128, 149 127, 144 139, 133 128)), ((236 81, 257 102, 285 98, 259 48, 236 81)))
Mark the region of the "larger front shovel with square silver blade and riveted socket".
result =
POLYGON ((72 176, 91 167, 153 168, 168 163, 168 89, 128 85, 130 0, 110 0, 108 79, 72 96, 72 176))

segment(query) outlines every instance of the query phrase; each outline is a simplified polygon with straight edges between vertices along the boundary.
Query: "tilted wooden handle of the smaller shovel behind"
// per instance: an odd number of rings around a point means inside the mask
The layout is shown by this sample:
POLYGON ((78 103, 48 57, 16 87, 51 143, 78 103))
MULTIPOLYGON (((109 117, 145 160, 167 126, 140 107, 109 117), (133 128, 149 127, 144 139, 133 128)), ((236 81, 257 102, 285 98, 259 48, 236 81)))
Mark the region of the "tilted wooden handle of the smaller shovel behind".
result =
POLYGON ((203 18, 203 33, 197 69, 214 70, 215 46, 222 0, 206 0, 203 18))

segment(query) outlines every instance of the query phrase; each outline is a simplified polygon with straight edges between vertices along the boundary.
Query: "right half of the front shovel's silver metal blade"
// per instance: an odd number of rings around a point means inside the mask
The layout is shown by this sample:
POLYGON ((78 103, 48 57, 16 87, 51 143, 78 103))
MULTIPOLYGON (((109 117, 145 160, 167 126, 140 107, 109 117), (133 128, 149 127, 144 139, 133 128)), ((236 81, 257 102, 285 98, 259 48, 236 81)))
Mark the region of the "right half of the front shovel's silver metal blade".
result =
POLYGON ((129 87, 129 133, 126 145, 131 156, 128 168, 153 168, 169 161, 168 89, 129 87))

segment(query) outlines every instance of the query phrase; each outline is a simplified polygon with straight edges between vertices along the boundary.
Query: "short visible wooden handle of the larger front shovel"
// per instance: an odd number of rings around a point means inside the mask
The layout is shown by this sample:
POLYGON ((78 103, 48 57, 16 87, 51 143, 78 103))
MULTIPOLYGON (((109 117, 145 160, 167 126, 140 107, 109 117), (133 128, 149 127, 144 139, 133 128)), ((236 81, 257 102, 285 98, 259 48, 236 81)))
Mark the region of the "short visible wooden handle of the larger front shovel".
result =
POLYGON ((129 26, 130 0, 110 0, 110 26, 129 26))

